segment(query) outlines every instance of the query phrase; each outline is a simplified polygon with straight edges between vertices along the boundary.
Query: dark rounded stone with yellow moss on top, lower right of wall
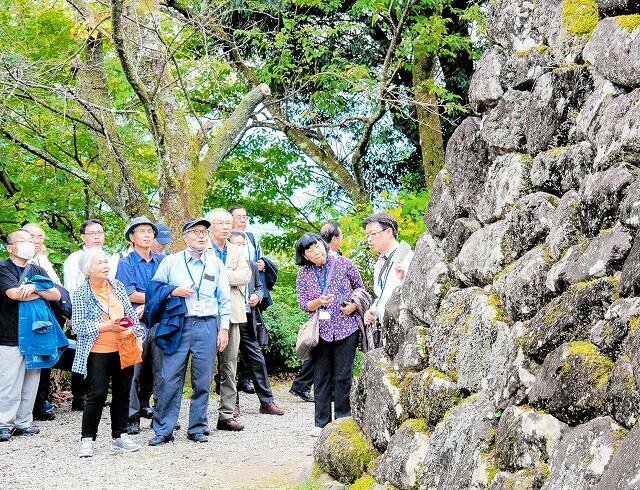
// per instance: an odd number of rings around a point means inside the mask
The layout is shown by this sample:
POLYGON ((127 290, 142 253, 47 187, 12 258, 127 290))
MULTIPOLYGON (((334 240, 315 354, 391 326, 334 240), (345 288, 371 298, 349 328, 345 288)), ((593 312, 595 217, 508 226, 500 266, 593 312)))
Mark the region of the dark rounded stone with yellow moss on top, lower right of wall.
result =
POLYGON ((613 362, 589 342, 562 344, 542 363, 529 402, 569 425, 605 414, 613 362))

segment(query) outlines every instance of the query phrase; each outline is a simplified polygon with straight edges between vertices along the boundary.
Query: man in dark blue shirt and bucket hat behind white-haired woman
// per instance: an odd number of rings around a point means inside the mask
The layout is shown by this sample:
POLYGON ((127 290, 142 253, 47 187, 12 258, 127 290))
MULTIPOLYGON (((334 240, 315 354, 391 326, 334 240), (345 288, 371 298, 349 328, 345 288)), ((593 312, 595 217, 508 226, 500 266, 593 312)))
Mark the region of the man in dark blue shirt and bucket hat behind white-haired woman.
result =
POLYGON ((149 405, 154 388, 159 383, 160 356, 153 343, 155 330, 147 325, 144 317, 145 292, 164 255, 151 250, 153 240, 158 236, 158 228, 146 216, 131 219, 124 230, 124 238, 133 250, 118 262, 118 279, 127 291, 131 304, 136 308, 138 318, 145 327, 146 335, 142 344, 142 362, 136 364, 129 395, 129 434, 140 432, 140 417, 151 418, 153 411, 149 405))

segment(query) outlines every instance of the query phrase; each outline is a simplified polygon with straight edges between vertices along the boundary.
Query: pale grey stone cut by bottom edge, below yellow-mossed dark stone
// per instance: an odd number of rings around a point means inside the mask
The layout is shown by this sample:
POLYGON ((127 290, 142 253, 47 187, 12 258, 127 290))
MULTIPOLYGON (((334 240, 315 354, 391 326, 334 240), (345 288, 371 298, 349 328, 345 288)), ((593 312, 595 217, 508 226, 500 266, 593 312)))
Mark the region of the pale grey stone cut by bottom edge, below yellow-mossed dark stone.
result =
POLYGON ((599 417, 571 429, 549 461, 551 473, 542 488, 593 488, 612 461, 624 434, 624 429, 609 417, 599 417))

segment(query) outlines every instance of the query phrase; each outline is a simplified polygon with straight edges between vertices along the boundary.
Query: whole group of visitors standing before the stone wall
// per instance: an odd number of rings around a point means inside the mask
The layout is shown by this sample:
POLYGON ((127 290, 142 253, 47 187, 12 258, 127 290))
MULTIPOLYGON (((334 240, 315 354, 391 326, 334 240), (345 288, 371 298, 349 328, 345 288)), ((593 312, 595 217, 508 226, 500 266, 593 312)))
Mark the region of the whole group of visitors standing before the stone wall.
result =
MULTIPOLYGON (((103 224, 89 219, 79 230, 83 247, 64 262, 64 282, 47 258, 39 225, 10 233, 9 257, 0 261, 0 441, 37 434, 34 419, 55 418, 48 400, 52 368, 72 371, 71 408, 82 412, 80 457, 93 456, 107 405, 113 452, 140 449, 130 436, 140 432, 141 418, 151 419, 150 446, 173 441, 189 366, 191 441, 208 440, 214 380, 217 430, 244 429, 239 390, 257 395, 261 414, 283 415, 262 353, 268 337, 262 312, 272 304, 278 268, 262 254, 248 221, 243 206, 214 209, 184 223, 184 247, 168 254, 171 230, 136 217, 124 229, 127 249, 109 256, 103 224)), ((373 214, 364 228, 379 254, 375 300, 340 254, 337 223, 295 244, 298 302, 315 315, 318 338, 290 392, 314 402, 312 436, 351 414, 356 349, 380 345, 385 304, 412 258, 390 215, 373 214)))

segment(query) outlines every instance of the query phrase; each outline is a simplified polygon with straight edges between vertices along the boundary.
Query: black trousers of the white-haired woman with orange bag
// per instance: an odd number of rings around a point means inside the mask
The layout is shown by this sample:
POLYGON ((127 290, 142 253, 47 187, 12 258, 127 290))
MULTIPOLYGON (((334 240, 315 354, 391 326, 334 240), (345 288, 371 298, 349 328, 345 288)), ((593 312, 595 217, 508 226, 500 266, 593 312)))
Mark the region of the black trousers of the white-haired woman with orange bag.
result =
POLYGON ((129 415, 129 390, 133 379, 133 366, 120 368, 120 354, 91 352, 87 360, 87 403, 82 413, 82 437, 98 435, 104 401, 111 382, 111 437, 114 439, 127 432, 129 415))

